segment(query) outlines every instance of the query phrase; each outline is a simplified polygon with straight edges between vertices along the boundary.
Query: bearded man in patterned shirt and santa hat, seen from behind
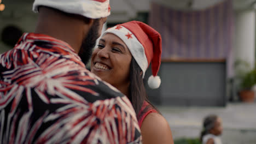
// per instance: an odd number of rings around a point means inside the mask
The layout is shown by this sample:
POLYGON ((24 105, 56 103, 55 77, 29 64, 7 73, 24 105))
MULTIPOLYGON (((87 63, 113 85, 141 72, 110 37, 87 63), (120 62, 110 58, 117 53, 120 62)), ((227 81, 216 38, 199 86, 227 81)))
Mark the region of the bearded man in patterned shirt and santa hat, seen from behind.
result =
POLYGON ((141 143, 130 101, 84 65, 109 0, 36 0, 33 10, 35 33, 0 55, 0 143, 141 143))

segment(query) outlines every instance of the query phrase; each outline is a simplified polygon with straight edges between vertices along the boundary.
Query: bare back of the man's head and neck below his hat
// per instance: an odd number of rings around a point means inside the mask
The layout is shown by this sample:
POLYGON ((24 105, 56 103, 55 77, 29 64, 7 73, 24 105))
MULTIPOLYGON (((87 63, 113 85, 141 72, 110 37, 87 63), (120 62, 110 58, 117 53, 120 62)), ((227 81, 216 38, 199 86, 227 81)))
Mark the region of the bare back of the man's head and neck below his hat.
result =
POLYGON ((78 53, 90 26, 83 19, 66 16, 54 9, 42 7, 39 11, 35 33, 65 41, 78 53))

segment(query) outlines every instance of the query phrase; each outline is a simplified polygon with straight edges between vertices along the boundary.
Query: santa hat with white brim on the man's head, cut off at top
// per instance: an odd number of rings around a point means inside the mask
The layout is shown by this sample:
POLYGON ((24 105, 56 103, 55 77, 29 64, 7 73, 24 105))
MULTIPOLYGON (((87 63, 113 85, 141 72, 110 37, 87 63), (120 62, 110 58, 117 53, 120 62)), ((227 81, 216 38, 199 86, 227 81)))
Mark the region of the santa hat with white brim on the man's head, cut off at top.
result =
POLYGON ((40 5, 55 8, 69 14, 78 14, 91 19, 110 15, 109 0, 35 0, 33 11, 40 5))

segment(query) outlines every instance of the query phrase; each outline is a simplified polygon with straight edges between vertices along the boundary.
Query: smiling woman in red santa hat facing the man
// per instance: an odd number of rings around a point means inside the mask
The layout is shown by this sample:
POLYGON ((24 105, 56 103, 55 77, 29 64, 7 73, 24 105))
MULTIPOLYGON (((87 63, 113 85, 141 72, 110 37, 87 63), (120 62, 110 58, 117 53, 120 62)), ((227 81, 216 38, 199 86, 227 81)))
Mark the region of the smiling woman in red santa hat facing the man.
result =
POLYGON ((173 143, 164 117, 150 104, 143 85, 151 62, 149 86, 158 88, 161 35, 143 22, 131 21, 107 29, 92 53, 91 71, 130 99, 141 127, 143 143, 173 143))

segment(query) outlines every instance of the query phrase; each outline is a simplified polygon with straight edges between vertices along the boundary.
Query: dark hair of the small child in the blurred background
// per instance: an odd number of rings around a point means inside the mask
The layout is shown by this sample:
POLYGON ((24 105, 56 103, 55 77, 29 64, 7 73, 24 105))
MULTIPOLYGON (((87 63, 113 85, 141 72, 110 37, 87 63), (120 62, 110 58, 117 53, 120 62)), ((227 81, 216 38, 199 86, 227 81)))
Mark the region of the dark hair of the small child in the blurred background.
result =
POLYGON ((201 136, 200 136, 201 142, 202 142, 203 136, 210 133, 210 130, 214 127, 217 118, 218 118, 217 115, 209 115, 205 117, 205 119, 203 120, 203 129, 201 131, 201 136))

